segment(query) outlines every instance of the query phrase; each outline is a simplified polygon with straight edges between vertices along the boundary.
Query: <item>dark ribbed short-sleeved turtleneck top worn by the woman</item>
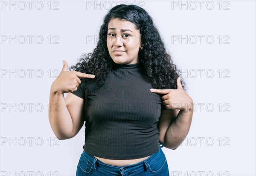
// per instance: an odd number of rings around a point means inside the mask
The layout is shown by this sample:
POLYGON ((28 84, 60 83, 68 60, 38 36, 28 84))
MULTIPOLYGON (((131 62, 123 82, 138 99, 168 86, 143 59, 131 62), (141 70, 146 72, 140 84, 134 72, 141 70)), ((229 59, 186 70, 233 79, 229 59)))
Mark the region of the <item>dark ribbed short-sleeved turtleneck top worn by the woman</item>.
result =
POLYGON ((159 149, 157 123, 166 109, 141 62, 113 63, 105 84, 87 78, 73 94, 85 102, 84 151, 105 159, 138 159, 159 149))

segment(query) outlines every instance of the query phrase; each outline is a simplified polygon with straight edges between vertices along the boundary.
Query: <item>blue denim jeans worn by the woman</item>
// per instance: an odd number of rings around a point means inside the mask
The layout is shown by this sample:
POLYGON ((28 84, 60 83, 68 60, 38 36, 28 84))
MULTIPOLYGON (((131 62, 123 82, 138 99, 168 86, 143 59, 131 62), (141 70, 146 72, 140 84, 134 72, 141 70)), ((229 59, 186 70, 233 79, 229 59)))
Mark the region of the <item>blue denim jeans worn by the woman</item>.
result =
POLYGON ((76 176, 169 176, 168 164, 162 151, 159 150, 137 164, 113 166, 99 161, 83 151, 79 159, 76 176))

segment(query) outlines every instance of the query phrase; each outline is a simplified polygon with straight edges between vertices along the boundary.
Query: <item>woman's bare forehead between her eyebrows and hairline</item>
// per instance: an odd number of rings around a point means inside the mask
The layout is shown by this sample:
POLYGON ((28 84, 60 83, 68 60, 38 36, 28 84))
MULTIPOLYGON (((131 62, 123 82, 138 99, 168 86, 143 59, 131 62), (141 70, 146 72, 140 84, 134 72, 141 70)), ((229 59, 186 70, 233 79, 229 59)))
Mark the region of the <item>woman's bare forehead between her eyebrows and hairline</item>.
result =
MULTIPOLYGON (((136 29, 134 23, 126 20, 112 19, 108 23, 108 28, 116 28, 116 29, 136 29)), ((136 29, 137 30, 137 29, 136 29)))

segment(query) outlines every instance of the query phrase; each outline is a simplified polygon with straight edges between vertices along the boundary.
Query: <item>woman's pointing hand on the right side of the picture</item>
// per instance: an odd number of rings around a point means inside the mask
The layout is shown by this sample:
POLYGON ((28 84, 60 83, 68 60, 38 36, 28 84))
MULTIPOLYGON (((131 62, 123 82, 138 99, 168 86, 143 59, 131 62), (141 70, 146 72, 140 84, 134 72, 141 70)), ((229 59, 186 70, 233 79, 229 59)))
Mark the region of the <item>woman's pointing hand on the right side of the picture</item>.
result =
POLYGON ((188 111, 193 107, 192 98, 183 89, 180 77, 177 78, 177 89, 150 89, 150 91, 166 94, 161 99, 167 109, 188 111))

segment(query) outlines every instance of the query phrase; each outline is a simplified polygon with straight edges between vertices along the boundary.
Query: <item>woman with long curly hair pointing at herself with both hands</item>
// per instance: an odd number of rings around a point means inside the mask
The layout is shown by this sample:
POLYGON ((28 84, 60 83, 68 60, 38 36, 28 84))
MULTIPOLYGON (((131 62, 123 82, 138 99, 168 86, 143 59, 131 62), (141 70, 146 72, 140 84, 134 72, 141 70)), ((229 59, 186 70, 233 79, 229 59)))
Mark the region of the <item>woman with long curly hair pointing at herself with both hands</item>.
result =
POLYGON ((82 56, 74 71, 63 61, 49 100, 58 106, 49 121, 59 139, 76 136, 85 121, 76 175, 168 176, 161 148, 182 143, 193 101, 152 18, 139 6, 113 7, 93 53, 82 56))

